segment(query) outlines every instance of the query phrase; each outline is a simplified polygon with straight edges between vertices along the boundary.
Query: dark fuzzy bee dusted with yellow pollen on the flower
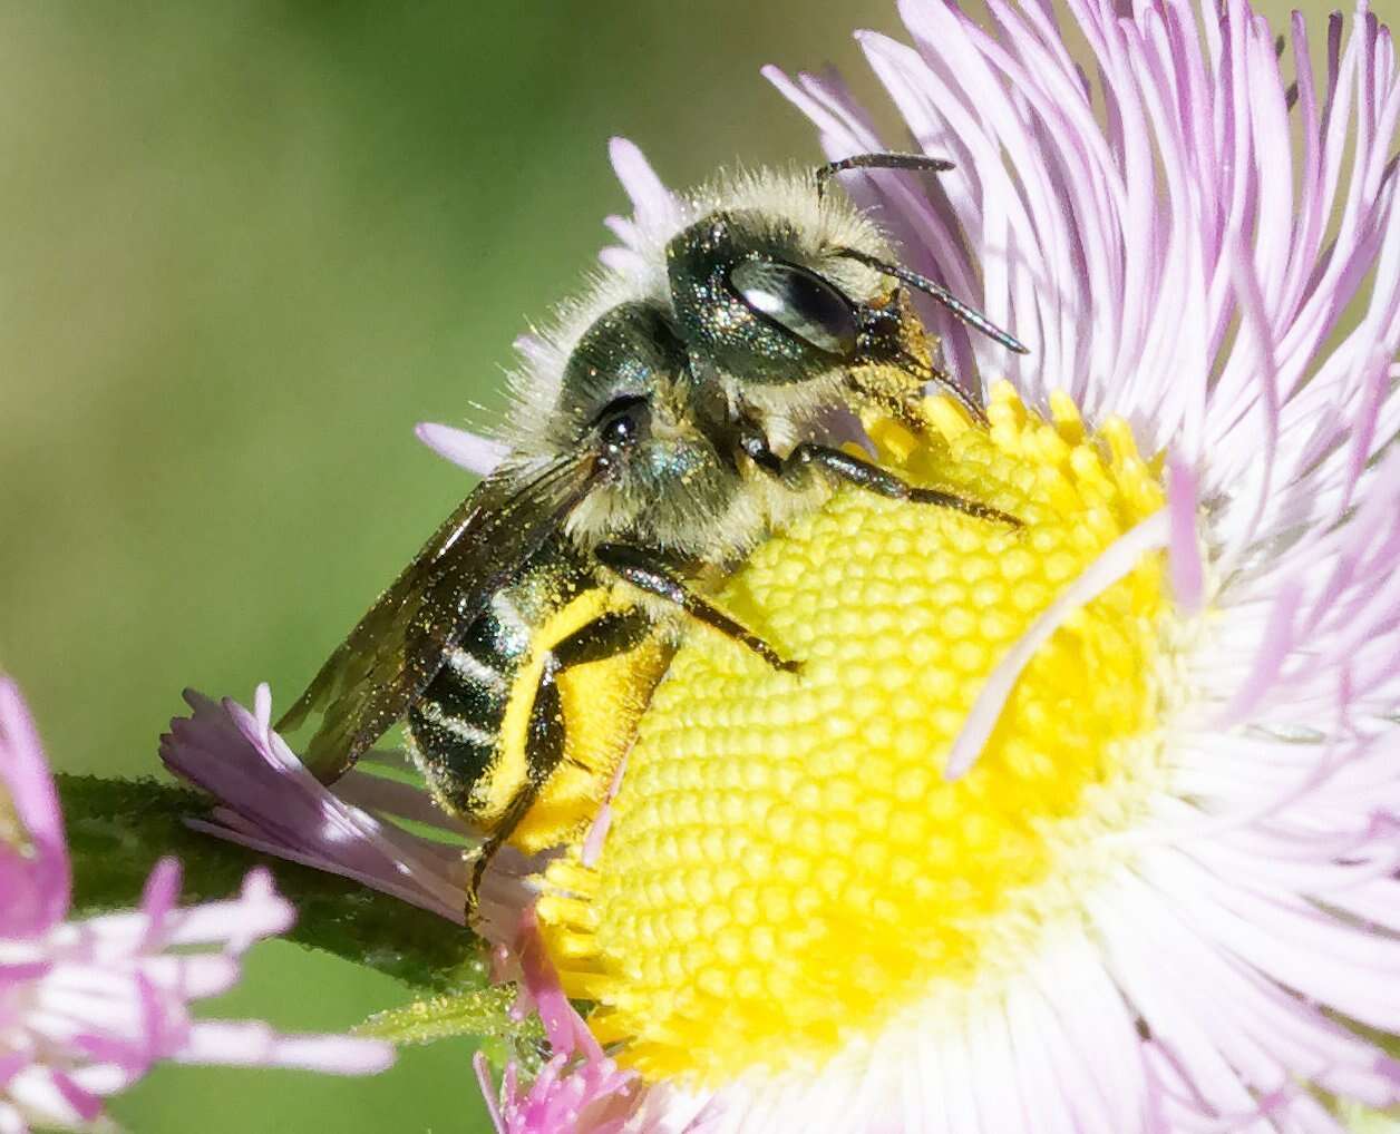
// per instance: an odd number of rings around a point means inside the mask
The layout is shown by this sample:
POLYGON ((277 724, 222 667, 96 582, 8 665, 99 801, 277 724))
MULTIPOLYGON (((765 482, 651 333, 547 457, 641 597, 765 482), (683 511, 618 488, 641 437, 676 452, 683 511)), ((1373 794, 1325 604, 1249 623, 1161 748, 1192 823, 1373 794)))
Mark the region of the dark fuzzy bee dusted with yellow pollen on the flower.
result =
POLYGON ((564 309, 519 383, 505 461, 279 722, 318 722, 305 759, 325 782, 406 724, 438 803, 484 836, 469 913, 504 843, 533 853, 588 822, 687 626, 799 670, 710 597, 760 541, 843 484, 1016 524, 829 443, 833 410, 918 428, 928 383, 986 421, 938 368, 913 291, 1026 351, 829 192, 858 168, 952 165, 865 154, 699 193, 645 238, 645 271, 564 309))

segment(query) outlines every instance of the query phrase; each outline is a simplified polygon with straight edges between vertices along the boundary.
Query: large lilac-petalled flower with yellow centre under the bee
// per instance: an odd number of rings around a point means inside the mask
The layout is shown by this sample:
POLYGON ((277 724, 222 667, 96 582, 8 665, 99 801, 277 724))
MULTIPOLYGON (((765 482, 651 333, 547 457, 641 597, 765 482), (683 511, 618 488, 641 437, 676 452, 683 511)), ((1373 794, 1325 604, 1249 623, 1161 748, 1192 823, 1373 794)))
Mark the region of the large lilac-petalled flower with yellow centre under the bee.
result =
MULTIPOLYGON (((861 36, 958 168, 850 190, 1033 347, 931 312, 1004 379, 991 428, 935 403, 872 442, 1023 531, 846 491, 762 547, 720 600, 802 678, 694 635, 596 860, 546 873, 561 984, 671 1128, 1400 1102, 1390 35, 1334 18, 1319 80, 1243 0, 1068 8, 906 0, 914 46, 861 36)), ((836 80, 770 77, 833 158, 888 148, 836 80)), ((624 266, 647 224, 615 231, 624 266)))

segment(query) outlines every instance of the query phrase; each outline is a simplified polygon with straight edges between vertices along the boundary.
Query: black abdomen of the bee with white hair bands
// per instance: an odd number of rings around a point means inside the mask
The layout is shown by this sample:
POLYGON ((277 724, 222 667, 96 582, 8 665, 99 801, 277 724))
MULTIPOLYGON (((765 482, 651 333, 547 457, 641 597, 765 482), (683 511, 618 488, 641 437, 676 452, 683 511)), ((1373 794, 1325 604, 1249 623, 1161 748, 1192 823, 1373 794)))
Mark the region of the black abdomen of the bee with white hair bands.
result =
POLYGON ((498 798, 490 789, 521 663, 518 639, 504 629, 491 611, 479 618, 407 717, 414 755, 442 803, 483 829, 497 818, 498 798))

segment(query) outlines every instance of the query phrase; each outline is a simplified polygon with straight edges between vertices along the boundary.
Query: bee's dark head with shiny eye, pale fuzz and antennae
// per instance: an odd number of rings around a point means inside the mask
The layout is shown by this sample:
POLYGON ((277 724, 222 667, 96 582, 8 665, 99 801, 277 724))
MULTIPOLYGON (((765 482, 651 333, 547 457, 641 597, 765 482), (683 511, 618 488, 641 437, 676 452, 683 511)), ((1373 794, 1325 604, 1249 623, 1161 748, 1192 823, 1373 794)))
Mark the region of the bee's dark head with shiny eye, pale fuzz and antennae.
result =
MULTIPOLYGON (((882 164, 945 165, 907 155, 882 164)), ((938 369, 910 291, 1011 350, 1026 348, 899 264, 881 229, 844 196, 823 194, 823 185, 820 172, 815 180, 741 182, 669 241, 671 299, 693 365, 713 365, 745 400, 780 414, 830 408, 853 390, 890 408, 937 382, 980 417, 980 403, 938 369)))

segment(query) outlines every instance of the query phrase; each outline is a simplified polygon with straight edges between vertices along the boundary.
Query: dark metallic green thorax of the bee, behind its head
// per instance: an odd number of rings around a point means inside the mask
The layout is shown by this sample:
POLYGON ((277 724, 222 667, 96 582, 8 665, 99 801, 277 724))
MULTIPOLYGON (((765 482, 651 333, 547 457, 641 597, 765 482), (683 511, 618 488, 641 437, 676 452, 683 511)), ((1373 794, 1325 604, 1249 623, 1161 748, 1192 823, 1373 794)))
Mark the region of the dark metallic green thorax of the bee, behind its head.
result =
POLYGON ((575 538, 643 538, 686 554, 714 543, 738 471, 710 424, 722 410, 706 399, 659 306, 620 303, 589 326, 550 417, 552 447, 594 461, 594 487, 568 519, 575 538))

